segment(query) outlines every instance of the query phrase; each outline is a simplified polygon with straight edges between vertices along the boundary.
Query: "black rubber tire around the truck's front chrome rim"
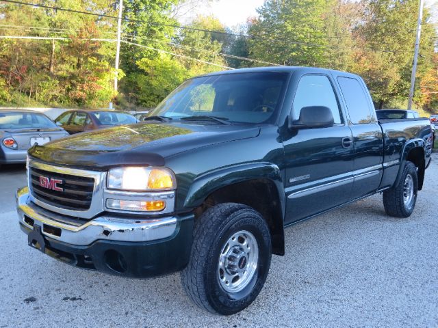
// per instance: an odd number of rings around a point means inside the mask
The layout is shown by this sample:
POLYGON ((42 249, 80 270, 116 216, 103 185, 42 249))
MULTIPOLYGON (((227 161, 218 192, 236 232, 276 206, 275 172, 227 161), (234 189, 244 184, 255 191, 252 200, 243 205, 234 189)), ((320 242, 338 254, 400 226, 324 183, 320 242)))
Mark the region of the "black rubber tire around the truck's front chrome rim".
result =
POLYGON ((201 308, 216 314, 235 314, 248 307, 259 295, 270 262, 270 231, 263 217, 242 204, 218 204, 206 210, 195 222, 192 252, 188 266, 181 272, 181 282, 190 298, 201 308), (242 284, 242 290, 227 292, 220 282, 220 254, 230 238, 242 231, 250 232, 257 241, 257 269, 248 284, 242 284))

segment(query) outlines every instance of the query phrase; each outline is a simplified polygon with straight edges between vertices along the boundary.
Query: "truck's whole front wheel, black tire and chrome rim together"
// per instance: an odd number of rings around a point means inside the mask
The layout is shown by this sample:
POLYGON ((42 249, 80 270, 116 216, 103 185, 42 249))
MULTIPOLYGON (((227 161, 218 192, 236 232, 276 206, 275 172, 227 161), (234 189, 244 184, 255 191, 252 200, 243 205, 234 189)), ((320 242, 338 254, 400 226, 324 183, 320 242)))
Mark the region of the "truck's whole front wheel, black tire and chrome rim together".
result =
POLYGON ((185 291, 201 308, 235 314, 253 303, 266 281, 271 238, 261 215, 242 204, 218 204, 195 222, 185 291))

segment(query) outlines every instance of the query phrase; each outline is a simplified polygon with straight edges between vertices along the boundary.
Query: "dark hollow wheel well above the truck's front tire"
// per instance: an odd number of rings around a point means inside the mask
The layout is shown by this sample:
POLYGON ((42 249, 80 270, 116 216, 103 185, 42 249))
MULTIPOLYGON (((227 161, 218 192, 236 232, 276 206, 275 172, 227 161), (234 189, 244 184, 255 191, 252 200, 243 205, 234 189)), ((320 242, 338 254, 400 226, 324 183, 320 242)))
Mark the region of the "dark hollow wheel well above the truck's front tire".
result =
POLYGON ((195 219, 207 208, 228 202, 245 204, 257 210, 268 223, 272 253, 285 254, 282 204, 274 182, 268 179, 254 179, 222 187, 211 193, 203 204, 196 208, 195 219))

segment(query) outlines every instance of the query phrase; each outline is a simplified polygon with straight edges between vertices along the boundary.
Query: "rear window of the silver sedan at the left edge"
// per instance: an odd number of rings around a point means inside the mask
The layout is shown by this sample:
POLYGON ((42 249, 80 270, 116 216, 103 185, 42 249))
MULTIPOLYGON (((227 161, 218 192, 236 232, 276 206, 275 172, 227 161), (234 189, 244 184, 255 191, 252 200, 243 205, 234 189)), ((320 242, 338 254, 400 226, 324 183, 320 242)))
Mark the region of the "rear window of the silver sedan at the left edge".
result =
POLYGON ((0 113, 0 128, 57 128, 46 115, 39 113, 0 113))

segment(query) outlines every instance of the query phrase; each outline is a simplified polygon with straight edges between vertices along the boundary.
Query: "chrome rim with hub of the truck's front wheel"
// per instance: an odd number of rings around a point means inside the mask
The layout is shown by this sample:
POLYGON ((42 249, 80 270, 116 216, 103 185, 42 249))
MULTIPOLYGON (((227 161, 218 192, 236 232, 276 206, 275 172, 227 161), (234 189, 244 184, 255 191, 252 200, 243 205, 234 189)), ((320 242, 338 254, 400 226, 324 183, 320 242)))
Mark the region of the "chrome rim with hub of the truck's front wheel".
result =
POLYGON ((240 292, 257 270, 259 247, 255 236, 246 230, 236 232, 222 247, 218 278, 226 292, 240 292))

